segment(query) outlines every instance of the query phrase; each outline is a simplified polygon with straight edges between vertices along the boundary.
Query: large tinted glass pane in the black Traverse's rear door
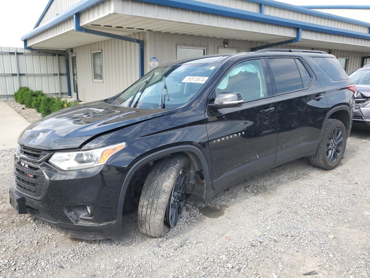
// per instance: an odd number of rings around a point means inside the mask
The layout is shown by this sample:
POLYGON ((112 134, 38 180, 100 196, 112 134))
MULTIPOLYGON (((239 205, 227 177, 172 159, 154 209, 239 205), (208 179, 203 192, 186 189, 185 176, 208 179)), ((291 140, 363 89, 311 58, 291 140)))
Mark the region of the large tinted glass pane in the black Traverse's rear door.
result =
POLYGON ((302 79, 294 58, 271 58, 268 60, 275 77, 277 93, 303 89, 302 79))

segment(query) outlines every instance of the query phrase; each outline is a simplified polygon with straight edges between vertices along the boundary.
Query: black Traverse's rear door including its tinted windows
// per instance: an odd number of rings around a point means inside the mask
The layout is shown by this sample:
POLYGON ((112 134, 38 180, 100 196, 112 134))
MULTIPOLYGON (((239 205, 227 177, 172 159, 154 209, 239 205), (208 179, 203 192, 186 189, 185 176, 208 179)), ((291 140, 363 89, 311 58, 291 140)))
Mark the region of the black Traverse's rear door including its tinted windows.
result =
POLYGON ((327 113, 322 87, 302 58, 266 59, 277 99, 276 164, 317 149, 327 113))

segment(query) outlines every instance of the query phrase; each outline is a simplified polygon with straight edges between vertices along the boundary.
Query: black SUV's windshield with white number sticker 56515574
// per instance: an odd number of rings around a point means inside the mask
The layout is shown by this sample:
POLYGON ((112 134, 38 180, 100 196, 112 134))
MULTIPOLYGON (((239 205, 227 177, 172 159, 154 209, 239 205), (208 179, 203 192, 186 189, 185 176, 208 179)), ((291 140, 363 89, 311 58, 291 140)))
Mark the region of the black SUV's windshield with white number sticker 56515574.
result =
POLYGON ((181 64, 162 66, 152 70, 122 92, 111 104, 141 109, 158 109, 182 106, 194 96, 216 71, 213 64, 181 64), (163 76, 168 90, 164 89, 163 76))

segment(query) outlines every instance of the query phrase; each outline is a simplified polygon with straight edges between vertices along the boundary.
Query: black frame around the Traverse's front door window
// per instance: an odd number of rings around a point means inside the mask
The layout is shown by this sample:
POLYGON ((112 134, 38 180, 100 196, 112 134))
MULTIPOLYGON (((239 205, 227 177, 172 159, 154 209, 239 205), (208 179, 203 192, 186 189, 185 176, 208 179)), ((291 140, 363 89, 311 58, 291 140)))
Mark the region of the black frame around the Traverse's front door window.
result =
POLYGON ((240 63, 243 63, 243 62, 248 62, 248 61, 252 61, 252 60, 260 60, 261 61, 261 65, 262 65, 262 70, 263 70, 263 74, 265 75, 265 83, 266 83, 266 91, 267 91, 267 96, 265 97, 260 97, 258 99, 251 99, 251 100, 245 100, 243 99, 243 105, 245 103, 250 103, 250 102, 254 102, 254 101, 258 101, 258 100, 261 100, 261 99, 267 99, 269 97, 273 97, 273 91, 271 89, 271 80, 270 80, 270 75, 269 75, 269 72, 268 72, 268 68, 266 66, 266 62, 265 62, 265 57, 253 57, 253 58, 248 58, 248 59, 243 59, 243 60, 240 60, 234 64, 232 64, 223 74, 221 77, 219 77, 218 79, 218 82, 215 84, 215 86, 212 88, 211 90, 211 95, 208 97, 208 102, 207 102, 207 107, 208 107, 208 103, 210 102, 210 100, 212 99, 212 97, 216 97, 216 88, 218 87, 218 85, 221 83, 221 81, 223 80, 223 78, 230 72, 230 70, 232 70, 235 66, 237 66, 238 64, 240 63))

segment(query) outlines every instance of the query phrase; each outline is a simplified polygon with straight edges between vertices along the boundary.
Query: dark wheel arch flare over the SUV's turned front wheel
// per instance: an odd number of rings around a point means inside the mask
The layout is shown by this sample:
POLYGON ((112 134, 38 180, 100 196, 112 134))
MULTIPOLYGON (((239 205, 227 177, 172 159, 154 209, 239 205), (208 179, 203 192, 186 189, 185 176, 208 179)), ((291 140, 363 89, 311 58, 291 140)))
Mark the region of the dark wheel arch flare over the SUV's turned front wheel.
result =
POLYGON ((167 156, 167 155, 171 155, 172 153, 176 153, 176 152, 184 152, 189 157, 191 162, 195 164, 196 168, 201 167, 202 170, 203 170, 204 178, 205 178, 206 182, 208 183, 207 185, 209 186, 209 184, 210 184, 210 186, 211 186, 210 189, 213 189, 212 188, 212 183, 211 183, 211 175, 210 175, 209 169, 208 169, 208 163, 207 163, 205 157, 203 156, 202 152, 198 148, 196 148, 195 146, 192 146, 192 145, 181 145, 181 146, 175 146, 175 147, 159 150, 158 152, 154 152, 154 153, 151 153, 149 155, 146 155, 144 158, 137 161, 134 164, 134 166, 132 166, 131 169, 128 171, 128 173, 125 177, 125 180, 123 182, 123 185, 121 187, 120 197, 118 198, 117 219, 122 218, 123 205, 124 205, 126 191, 127 191, 128 184, 131 181, 132 176, 134 176, 134 173, 141 166, 147 164, 148 162, 150 162, 152 160, 155 160, 155 159, 162 158, 162 157, 167 156), (199 162, 196 160, 195 156, 196 156, 196 158, 199 159, 199 162))

